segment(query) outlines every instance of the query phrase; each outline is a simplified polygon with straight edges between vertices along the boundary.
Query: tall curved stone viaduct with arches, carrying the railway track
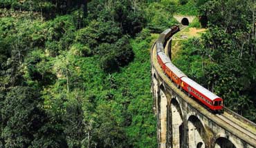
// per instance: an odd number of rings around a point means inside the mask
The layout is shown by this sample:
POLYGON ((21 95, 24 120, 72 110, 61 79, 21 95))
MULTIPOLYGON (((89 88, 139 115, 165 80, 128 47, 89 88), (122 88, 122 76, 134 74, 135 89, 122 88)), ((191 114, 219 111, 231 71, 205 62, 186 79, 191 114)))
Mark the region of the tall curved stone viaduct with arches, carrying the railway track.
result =
MULTIPOLYGON (((171 41, 163 44, 166 53, 171 53, 171 41)), ((178 89, 158 65, 156 44, 152 46, 151 62, 154 112, 158 119, 158 147, 256 147, 255 123, 227 108, 223 114, 212 114, 178 89)))

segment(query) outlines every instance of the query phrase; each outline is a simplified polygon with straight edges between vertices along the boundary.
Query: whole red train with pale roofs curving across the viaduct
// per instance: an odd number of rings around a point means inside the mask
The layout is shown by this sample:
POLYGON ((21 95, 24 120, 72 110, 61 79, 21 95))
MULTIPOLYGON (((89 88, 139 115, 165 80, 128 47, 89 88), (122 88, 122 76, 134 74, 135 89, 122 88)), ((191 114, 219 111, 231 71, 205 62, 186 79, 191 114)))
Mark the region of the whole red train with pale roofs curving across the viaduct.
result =
POLYGON ((223 112, 222 98, 186 76, 172 63, 172 61, 170 61, 170 58, 166 56, 163 47, 165 47, 167 40, 169 40, 176 32, 179 32, 179 30, 179 25, 174 25, 172 28, 161 33, 156 40, 157 61, 161 66, 161 69, 176 87, 183 90, 183 92, 188 93, 188 96, 192 96, 192 98, 195 98, 203 104, 203 106, 214 113, 223 112))

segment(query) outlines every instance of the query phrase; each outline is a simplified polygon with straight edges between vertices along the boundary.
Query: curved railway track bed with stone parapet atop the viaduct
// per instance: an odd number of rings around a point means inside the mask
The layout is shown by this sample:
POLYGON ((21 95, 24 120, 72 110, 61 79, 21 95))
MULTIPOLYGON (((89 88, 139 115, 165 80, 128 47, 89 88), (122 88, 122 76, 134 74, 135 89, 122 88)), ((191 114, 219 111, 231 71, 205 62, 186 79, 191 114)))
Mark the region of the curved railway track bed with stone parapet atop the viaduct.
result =
MULTIPOLYGON (((184 27, 183 27, 184 28, 184 27)), ((181 29, 183 29, 181 28, 181 29)), ((170 29, 165 30, 163 34, 168 34, 170 32, 170 29)), ((159 39, 165 39, 165 43, 161 47, 162 50, 165 51, 165 54, 167 54, 168 58, 170 58, 171 53, 170 49, 166 49, 165 45, 168 41, 172 40, 172 36, 161 36, 159 39), (166 41, 167 40, 167 41, 166 41)), ((157 58, 156 58, 156 50, 157 49, 156 42, 152 45, 152 52, 151 52, 151 59, 152 59, 152 66, 158 72, 158 75, 161 76, 163 81, 167 84, 167 87, 170 87, 173 89, 177 94, 179 94, 184 101, 188 102, 188 104, 192 105, 195 109, 197 109, 203 116, 207 116, 212 122, 216 123, 223 129, 226 129, 233 135, 237 136, 241 140, 244 140, 248 144, 252 145, 253 147, 256 147, 256 124, 251 122, 250 120, 244 118, 243 116, 240 116, 239 114, 236 114, 235 112, 232 112, 230 109, 224 107, 223 114, 213 114, 208 109, 205 109, 204 107, 201 107, 197 101, 190 98, 188 94, 185 94, 181 91, 181 89, 178 89, 174 83, 168 78, 167 75, 163 72, 161 69, 161 66, 159 65, 157 58)))

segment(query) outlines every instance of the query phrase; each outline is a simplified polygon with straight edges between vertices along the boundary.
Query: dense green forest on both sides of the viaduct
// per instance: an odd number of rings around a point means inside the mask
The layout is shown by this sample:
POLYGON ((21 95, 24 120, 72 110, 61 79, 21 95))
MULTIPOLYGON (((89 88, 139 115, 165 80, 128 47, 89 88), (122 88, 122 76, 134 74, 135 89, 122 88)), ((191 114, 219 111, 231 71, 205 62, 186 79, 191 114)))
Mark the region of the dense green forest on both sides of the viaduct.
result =
POLYGON ((178 23, 173 14, 208 28, 183 42, 176 65, 255 121, 255 8, 253 0, 0 0, 0 147, 157 147, 149 55, 156 34, 178 23))

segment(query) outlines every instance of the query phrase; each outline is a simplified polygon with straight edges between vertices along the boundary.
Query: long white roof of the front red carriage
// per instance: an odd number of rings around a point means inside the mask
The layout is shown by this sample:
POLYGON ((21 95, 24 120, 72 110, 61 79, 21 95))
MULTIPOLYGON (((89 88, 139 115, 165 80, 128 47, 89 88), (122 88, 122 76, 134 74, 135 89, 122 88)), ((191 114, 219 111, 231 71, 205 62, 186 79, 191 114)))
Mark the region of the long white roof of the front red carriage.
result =
POLYGON ((203 94, 207 98, 210 98, 211 101, 214 101, 216 98, 220 98, 216 94, 213 94, 212 92, 210 92, 210 90, 199 85, 199 83, 196 83, 195 81, 193 81, 192 79, 190 79, 188 77, 183 77, 183 78, 181 78, 181 80, 184 81, 185 83, 187 83, 188 85, 190 85, 191 87, 193 87, 194 89, 196 89, 197 91, 201 92, 201 94, 203 94))

